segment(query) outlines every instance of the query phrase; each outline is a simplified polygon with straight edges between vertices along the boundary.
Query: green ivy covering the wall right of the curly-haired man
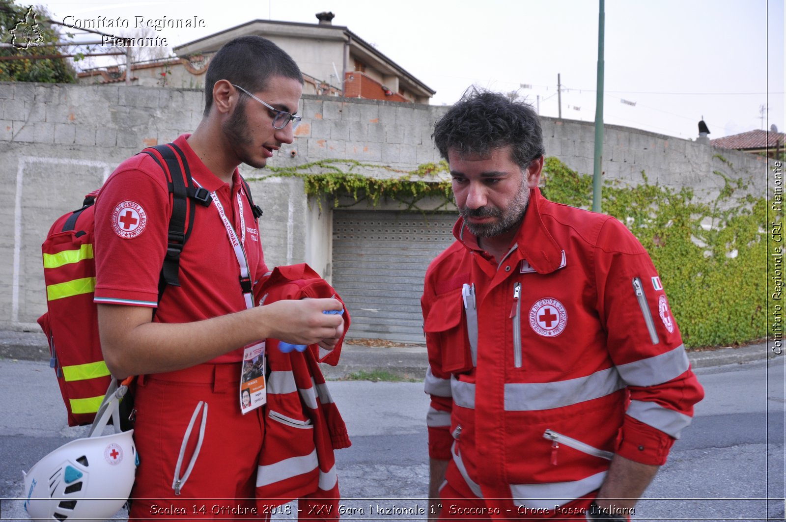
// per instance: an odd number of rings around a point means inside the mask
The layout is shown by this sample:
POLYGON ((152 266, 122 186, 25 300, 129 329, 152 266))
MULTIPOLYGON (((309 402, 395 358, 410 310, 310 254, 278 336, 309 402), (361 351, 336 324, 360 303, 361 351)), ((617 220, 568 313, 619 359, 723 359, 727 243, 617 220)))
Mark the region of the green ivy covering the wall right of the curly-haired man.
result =
MULTIPOLYGON (((685 344, 729 346, 767 335, 769 222, 765 198, 735 197, 744 183, 724 179, 718 198, 696 200, 689 187, 605 182, 602 208, 628 226, 652 257, 685 344)), ((589 208, 592 176, 546 160, 542 189, 549 200, 589 208)), ((770 263, 773 261, 770 259, 770 263)), ((772 272, 769 272, 772 273, 772 272)))

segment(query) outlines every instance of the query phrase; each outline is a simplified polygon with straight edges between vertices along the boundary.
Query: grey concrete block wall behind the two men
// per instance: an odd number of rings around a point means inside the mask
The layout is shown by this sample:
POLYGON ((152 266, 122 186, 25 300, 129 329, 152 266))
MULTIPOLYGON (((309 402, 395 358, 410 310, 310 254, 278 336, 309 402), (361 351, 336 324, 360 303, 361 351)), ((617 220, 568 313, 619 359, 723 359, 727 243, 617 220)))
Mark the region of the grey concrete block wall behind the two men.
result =
MULTIPOLYGON (((83 196, 127 157, 196 128, 200 90, 125 85, 0 83, 0 329, 37 329, 46 309, 40 245, 51 223, 78 208, 83 196)), ((303 123, 271 166, 338 158, 367 164, 364 175, 393 176, 439 161, 433 124, 443 106, 304 95, 303 123), (388 168, 386 168, 388 167, 388 168)), ((592 123, 542 119, 545 149, 569 167, 591 173, 592 123)), ((767 162, 757 156, 626 127, 606 126, 604 171, 631 184, 692 186, 714 197, 724 186, 712 171, 743 177, 766 193, 767 162), (727 162, 718 155, 725 156, 727 162), (729 167, 729 163, 734 168, 729 167)), ((329 208, 320 212, 292 178, 264 178, 241 167, 265 209, 263 245, 269 267, 316 262, 329 267, 329 208), (310 232, 311 230, 311 232, 310 232), (314 231, 316 230, 316 231, 314 231), (311 237, 314 234, 327 237, 311 237)))

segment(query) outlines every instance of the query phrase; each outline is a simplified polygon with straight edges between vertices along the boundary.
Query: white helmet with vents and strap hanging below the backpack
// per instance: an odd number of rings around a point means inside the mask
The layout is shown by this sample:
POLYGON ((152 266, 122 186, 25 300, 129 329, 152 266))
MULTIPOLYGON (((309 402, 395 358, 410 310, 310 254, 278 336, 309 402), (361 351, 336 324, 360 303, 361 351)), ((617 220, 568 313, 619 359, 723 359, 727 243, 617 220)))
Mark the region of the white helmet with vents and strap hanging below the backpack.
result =
POLYGON ((57 448, 24 474, 24 509, 31 518, 108 519, 127 502, 138 465, 134 430, 101 436, 110 414, 119 426, 116 399, 122 388, 107 395, 105 412, 99 410, 90 436, 57 448))

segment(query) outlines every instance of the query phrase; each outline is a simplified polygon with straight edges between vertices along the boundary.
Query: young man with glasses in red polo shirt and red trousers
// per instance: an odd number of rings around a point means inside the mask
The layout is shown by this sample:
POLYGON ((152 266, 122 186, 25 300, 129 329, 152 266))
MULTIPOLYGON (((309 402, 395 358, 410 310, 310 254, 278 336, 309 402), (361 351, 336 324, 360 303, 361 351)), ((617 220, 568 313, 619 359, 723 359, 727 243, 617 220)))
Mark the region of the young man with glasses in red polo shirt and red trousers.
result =
POLYGON ((292 143, 303 92, 298 66, 272 42, 244 36, 215 54, 204 92, 200 124, 174 145, 211 201, 196 205, 180 285, 167 286, 160 302, 171 215, 162 168, 138 154, 120 164, 97 198, 101 346, 112 375, 140 376, 130 519, 250 516, 265 409, 241 414, 244 347, 275 338, 331 349, 343 335, 342 316, 323 313, 341 309, 338 300, 254 307, 240 282, 244 270, 255 282, 268 269, 237 167, 265 167, 292 143))

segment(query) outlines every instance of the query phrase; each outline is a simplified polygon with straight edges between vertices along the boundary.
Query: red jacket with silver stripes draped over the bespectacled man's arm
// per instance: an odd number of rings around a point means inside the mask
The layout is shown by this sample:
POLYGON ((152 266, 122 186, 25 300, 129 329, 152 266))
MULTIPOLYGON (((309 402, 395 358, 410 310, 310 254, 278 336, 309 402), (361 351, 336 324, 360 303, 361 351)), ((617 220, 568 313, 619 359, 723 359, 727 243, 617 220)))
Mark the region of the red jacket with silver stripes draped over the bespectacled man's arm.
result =
MULTIPOLYGON (((336 292, 327 282, 307 264, 299 264, 275 268, 258 286, 255 302, 269 304, 282 299, 332 296, 336 292)), ((343 318, 348 328, 346 310, 343 318)), ((305 351, 288 353, 279 350, 278 342, 266 340, 270 374, 265 440, 256 478, 258 505, 280 505, 300 498, 303 513, 313 511, 335 518, 339 490, 333 450, 351 443, 318 362, 336 366, 341 342, 332 351, 314 344, 305 351), (311 510, 307 508, 310 505, 325 507, 311 510)))

